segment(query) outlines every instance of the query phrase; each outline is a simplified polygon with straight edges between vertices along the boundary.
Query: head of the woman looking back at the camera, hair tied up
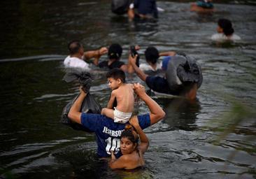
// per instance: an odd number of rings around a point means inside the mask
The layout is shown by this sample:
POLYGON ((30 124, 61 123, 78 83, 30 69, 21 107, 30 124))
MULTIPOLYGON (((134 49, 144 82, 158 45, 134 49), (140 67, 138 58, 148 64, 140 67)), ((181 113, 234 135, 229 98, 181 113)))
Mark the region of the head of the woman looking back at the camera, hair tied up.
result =
POLYGON ((130 154, 131 152, 134 152, 134 150, 137 150, 138 134, 134 130, 134 127, 131 126, 131 124, 125 125, 125 131, 122 131, 120 141, 120 150, 122 155, 130 154))

